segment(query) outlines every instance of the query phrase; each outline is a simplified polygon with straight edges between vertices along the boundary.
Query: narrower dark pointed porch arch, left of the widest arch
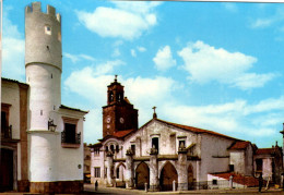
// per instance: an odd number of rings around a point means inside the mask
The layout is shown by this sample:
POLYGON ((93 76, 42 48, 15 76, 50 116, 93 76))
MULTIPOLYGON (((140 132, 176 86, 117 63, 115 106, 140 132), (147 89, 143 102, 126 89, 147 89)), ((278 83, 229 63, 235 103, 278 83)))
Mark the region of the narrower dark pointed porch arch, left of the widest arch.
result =
POLYGON ((141 162, 135 170, 135 184, 138 190, 144 190, 145 183, 150 186, 150 169, 145 162, 141 162))

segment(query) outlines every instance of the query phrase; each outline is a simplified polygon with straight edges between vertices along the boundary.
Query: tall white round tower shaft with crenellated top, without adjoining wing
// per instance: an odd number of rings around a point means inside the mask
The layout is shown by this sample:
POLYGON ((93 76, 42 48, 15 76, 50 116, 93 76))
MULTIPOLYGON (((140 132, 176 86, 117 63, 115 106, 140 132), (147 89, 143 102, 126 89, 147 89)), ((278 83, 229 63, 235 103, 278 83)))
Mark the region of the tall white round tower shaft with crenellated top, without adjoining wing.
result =
POLYGON ((55 8, 40 2, 25 10, 25 70, 29 85, 29 182, 57 181, 57 148, 60 134, 48 130, 51 114, 61 105, 61 23, 55 8))

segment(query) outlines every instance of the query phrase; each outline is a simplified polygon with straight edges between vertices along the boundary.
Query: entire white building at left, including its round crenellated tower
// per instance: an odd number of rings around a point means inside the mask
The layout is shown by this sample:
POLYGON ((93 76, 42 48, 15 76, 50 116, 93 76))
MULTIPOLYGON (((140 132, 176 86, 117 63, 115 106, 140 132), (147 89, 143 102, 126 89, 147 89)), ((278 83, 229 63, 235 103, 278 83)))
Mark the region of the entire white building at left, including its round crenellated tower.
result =
MULTIPOLYGON (((61 16, 25 9, 26 83, 2 78, 0 192, 83 191, 87 111, 61 103, 61 16)), ((19 64, 24 65, 24 64, 19 64)))

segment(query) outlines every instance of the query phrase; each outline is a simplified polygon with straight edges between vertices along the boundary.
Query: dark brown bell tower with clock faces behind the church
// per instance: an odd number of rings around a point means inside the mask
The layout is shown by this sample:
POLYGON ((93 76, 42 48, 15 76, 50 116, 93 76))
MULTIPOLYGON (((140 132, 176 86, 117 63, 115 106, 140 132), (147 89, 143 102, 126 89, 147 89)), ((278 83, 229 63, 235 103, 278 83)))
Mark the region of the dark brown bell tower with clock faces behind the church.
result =
POLYGON ((125 97, 125 86, 115 81, 107 86, 107 106, 103 107, 103 137, 138 129, 138 110, 125 97))

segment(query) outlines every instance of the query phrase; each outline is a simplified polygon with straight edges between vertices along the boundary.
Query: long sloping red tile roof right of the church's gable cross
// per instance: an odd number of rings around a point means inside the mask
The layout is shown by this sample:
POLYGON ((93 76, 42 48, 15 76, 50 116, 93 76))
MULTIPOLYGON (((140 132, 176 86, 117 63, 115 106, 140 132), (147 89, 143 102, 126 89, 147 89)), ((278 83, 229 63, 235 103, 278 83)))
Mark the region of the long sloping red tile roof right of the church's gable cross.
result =
POLYGON ((211 135, 217 135, 217 136, 222 136, 222 137, 225 137, 225 138, 239 141, 238 138, 234 138, 234 137, 230 137, 230 136, 217 133, 217 132, 209 131, 209 130, 202 130, 202 129, 198 129, 198 127, 193 127, 193 126, 187 126, 187 125, 182 125, 182 124, 171 123, 171 122, 163 121, 161 119, 155 119, 155 120, 163 122, 163 123, 166 123, 168 125, 179 127, 179 129, 182 129, 182 130, 187 130, 187 131, 190 131, 190 132, 194 132, 194 133, 208 133, 208 134, 211 134, 211 135))

